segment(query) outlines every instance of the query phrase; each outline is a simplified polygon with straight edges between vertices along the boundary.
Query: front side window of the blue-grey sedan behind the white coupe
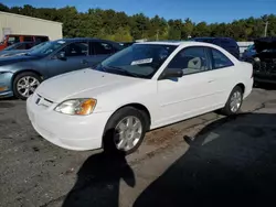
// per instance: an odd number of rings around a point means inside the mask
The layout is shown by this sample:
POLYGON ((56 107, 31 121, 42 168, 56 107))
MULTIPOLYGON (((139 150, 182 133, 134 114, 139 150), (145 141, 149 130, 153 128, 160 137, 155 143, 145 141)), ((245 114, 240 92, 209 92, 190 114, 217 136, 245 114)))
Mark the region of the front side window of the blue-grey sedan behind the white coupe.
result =
POLYGON ((88 54, 88 43, 71 43, 63 51, 67 57, 86 56, 88 54))

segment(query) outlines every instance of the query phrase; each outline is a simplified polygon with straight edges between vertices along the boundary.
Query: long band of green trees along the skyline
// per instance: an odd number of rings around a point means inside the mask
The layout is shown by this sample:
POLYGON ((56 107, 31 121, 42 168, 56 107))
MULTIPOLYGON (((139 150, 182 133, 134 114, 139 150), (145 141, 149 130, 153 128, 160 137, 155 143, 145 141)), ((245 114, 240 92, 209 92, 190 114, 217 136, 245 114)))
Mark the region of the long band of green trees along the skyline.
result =
POLYGON ((232 23, 194 23, 190 19, 182 21, 164 20, 156 15, 148 18, 144 13, 127 15, 114 10, 88 9, 78 12, 75 7, 33 8, 30 4, 9 8, 0 3, 0 11, 30 15, 63 23, 65 37, 100 37, 118 42, 148 40, 187 40, 189 36, 230 36, 236 41, 248 41, 264 35, 266 21, 269 22, 267 35, 276 35, 276 15, 263 15, 235 20, 232 23))

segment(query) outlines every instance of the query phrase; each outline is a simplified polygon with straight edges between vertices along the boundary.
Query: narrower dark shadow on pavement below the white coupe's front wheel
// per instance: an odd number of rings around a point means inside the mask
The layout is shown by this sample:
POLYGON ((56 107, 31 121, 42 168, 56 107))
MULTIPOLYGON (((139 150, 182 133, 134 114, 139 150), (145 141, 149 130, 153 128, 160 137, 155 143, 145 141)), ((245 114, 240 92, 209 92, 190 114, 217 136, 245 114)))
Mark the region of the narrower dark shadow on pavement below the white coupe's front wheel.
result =
POLYGON ((124 154, 99 153, 85 161, 63 207, 117 207, 119 182, 135 186, 135 175, 124 154))

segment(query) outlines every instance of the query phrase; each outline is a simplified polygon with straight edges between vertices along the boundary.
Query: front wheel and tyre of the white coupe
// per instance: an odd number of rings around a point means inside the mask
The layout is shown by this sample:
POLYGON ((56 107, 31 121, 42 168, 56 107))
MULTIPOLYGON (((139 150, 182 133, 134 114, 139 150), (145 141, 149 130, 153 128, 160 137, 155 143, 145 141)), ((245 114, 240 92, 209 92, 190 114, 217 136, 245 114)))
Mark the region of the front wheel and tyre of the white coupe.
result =
POLYGON ((104 150, 125 154, 135 152, 144 140, 147 122, 144 111, 132 107, 119 109, 107 122, 104 150))

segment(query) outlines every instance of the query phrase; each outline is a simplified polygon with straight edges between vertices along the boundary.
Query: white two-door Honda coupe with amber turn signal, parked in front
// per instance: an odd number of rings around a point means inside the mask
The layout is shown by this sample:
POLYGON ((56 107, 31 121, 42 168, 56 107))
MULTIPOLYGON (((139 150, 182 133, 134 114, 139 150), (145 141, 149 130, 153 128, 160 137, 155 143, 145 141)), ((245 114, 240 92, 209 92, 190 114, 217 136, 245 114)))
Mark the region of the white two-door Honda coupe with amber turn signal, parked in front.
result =
POLYGON ((237 113, 252 86, 252 65, 219 46, 146 42, 43 81, 26 110, 59 146, 129 154, 149 130, 217 109, 237 113))

